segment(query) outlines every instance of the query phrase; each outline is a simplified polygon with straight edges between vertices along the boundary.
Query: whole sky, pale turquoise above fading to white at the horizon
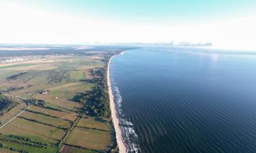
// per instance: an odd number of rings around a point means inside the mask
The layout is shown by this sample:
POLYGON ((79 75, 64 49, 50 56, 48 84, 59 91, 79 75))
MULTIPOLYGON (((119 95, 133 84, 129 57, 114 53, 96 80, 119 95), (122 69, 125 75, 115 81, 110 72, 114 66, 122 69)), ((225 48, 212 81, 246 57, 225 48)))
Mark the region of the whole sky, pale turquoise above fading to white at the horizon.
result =
POLYGON ((0 43, 210 42, 256 50, 255 0, 0 0, 0 43))

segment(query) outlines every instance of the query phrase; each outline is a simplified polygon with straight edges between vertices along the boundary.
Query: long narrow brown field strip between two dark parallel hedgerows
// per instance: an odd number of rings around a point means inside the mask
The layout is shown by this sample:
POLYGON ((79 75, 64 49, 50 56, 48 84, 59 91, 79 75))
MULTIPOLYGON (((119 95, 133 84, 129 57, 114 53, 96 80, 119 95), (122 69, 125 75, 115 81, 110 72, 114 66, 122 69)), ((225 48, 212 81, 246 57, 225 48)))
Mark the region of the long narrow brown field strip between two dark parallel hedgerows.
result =
POLYGON ((55 111, 52 109, 37 107, 34 105, 31 105, 31 107, 29 107, 29 110, 32 110, 34 112, 40 112, 40 113, 50 115, 50 116, 55 116, 57 118, 63 118, 66 120, 76 120, 76 118, 77 118, 77 114, 74 112, 60 112, 60 111, 55 111))

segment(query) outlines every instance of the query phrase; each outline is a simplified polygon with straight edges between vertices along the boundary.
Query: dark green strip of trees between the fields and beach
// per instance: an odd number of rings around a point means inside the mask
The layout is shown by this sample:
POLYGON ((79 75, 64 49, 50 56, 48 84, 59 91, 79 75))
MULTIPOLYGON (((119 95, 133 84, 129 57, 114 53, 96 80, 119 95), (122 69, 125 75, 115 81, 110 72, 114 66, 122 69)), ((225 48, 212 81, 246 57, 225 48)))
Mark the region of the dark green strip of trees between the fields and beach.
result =
POLYGON ((104 67, 93 71, 93 79, 84 80, 85 82, 96 84, 94 88, 91 91, 80 93, 73 98, 74 101, 83 104, 83 107, 80 109, 80 114, 94 117, 111 117, 106 70, 109 58, 113 56, 113 54, 116 54, 116 52, 110 52, 104 56, 102 60, 104 67))

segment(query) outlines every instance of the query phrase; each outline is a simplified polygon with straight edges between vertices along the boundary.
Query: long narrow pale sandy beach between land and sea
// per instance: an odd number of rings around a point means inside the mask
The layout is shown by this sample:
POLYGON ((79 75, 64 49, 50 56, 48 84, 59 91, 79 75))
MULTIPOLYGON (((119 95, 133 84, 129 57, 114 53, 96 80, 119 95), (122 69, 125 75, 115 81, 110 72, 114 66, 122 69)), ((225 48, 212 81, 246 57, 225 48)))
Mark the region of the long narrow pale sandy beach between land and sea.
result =
MULTIPOLYGON (((120 54, 124 54, 124 52, 121 52, 120 54)), ((109 86, 109 102, 110 102, 110 108, 111 108, 111 117, 112 117, 114 128, 115 128, 115 138, 117 139, 117 146, 119 148, 120 153, 126 153, 126 145, 122 140, 122 131, 119 127, 119 120, 117 118, 117 112, 115 109, 115 100, 112 92, 111 80, 109 75, 109 65, 114 56, 111 56, 111 58, 109 59, 108 69, 107 69, 107 80, 108 80, 108 86, 109 86)))

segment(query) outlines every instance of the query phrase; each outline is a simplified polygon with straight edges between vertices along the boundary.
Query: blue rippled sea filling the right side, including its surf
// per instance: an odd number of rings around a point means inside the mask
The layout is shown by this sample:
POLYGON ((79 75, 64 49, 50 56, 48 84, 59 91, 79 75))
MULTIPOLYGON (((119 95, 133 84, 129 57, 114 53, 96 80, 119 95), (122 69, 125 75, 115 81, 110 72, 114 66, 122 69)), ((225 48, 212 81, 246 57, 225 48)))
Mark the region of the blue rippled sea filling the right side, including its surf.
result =
POLYGON ((256 54, 140 48, 110 67, 128 152, 256 152, 256 54))

